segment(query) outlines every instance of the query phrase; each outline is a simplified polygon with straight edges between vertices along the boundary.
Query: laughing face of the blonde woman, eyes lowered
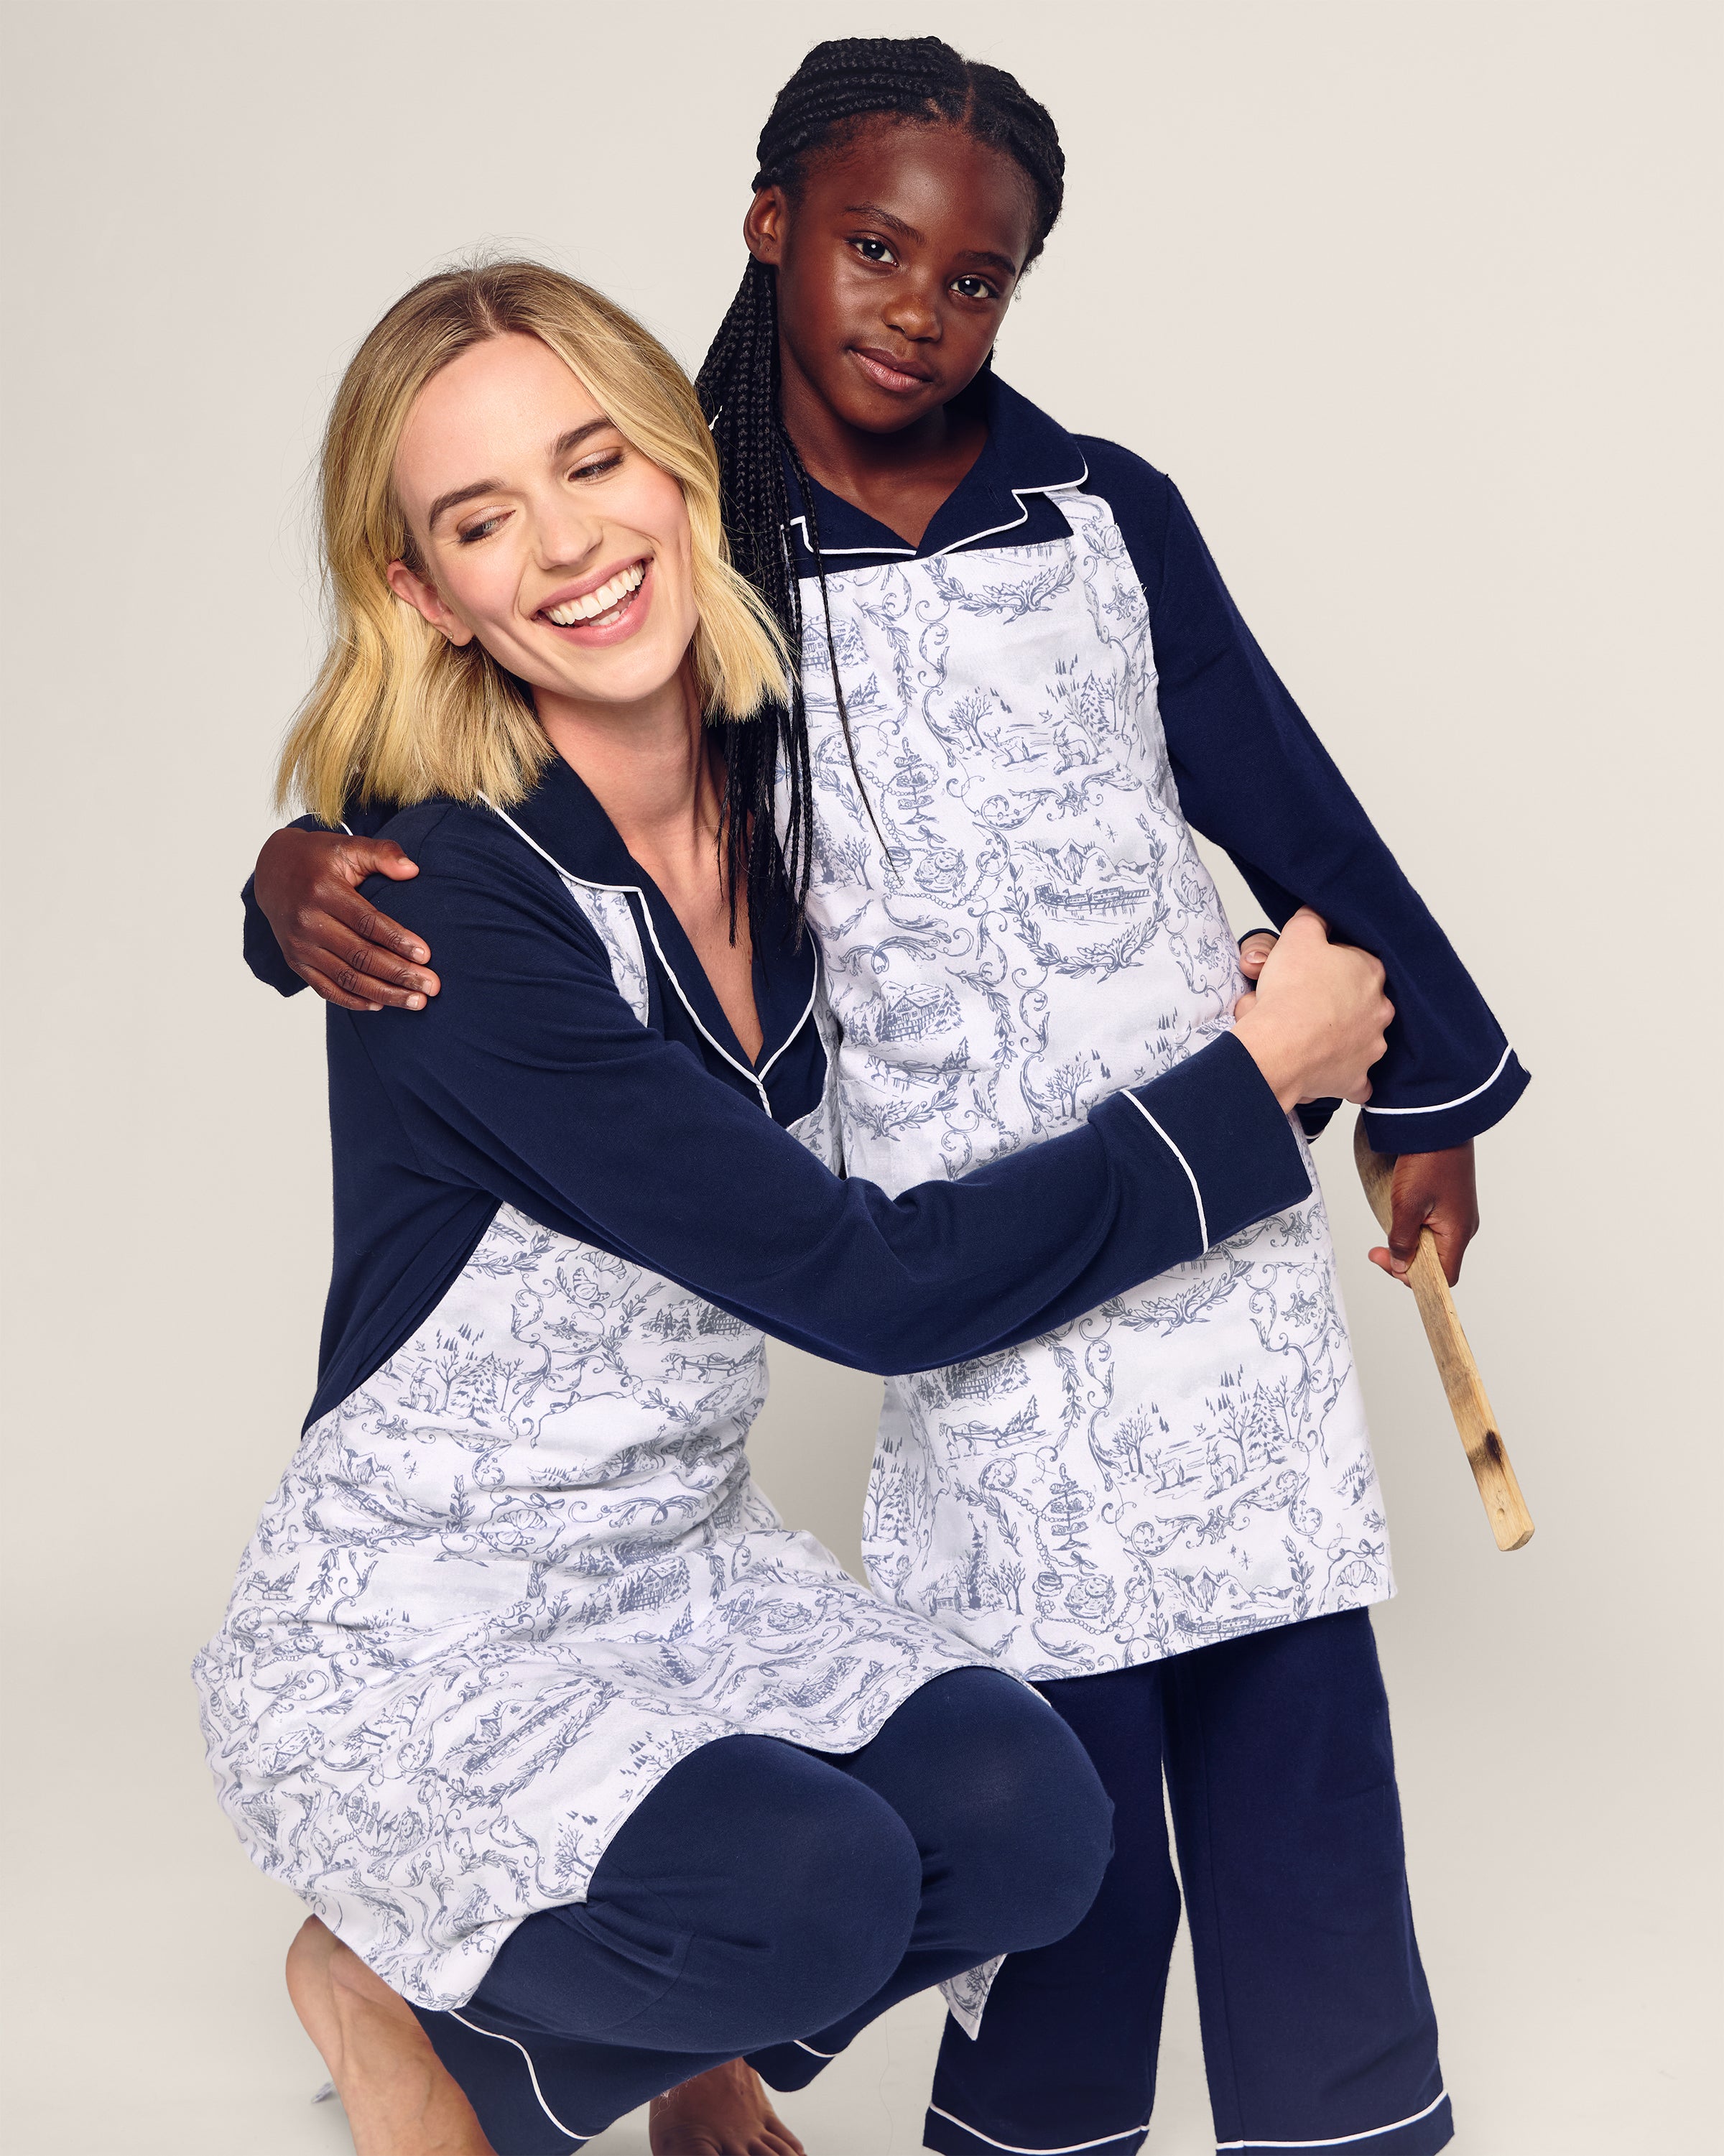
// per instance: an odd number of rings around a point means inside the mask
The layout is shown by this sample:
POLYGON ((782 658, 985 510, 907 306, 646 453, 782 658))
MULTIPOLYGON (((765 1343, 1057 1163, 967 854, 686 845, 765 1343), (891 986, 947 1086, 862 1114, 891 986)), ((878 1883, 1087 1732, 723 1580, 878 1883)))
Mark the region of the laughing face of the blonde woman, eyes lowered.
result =
POLYGON ((537 336, 487 338, 425 384, 394 487, 425 573, 390 563, 390 589, 453 645, 580 703, 638 703, 681 668, 683 489, 537 336))

